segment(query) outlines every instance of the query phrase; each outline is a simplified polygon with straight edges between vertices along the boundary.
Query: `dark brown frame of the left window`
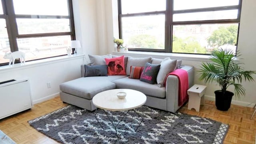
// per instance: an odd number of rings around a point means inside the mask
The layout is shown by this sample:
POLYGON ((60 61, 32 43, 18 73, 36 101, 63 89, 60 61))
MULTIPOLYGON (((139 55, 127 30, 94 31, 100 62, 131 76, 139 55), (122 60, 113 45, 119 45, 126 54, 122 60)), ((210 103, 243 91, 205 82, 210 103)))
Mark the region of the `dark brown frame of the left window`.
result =
MULTIPOLYGON (((69 16, 56 16, 56 15, 28 15, 28 14, 15 14, 14 12, 14 4, 12 0, 1 0, 3 13, 0 14, 0 18, 4 18, 6 20, 6 28, 10 43, 10 51, 15 52, 18 51, 18 43, 17 39, 19 38, 37 38, 37 37, 49 37, 49 36, 69 36, 70 40, 76 40, 75 36, 75 26, 74 26, 74 14, 73 14, 73 4, 72 0, 67 0, 68 2, 68 12, 69 16), (16 18, 54 18, 54 19, 69 19, 70 21, 70 32, 54 32, 54 33, 40 33, 40 34, 18 34, 18 26, 16 22, 16 18)), ((74 54, 74 48, 72 48, 72 54, 74 54)), ((65 56, 66 54, 58 55, 65 56)), ((50 56, 45 58, 52 58, 58 56, 50 56)), ((33 60, 41 60, 45 58, 38 58, 33 60)), ((33 61, 28 60, 28 61, 33 61)), ((20 60, 15 60, 15 63, 19 63, 20 60)), ((0 66, 7 65, 6 63, 0 63, 0 66)))

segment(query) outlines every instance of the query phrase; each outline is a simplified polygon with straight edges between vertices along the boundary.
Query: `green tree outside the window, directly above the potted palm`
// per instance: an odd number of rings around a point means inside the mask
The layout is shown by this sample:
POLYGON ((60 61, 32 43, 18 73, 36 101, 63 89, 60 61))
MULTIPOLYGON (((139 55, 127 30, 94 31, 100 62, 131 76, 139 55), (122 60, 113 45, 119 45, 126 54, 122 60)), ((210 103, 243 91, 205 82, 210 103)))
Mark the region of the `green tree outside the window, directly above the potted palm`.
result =
POLYGON ((231 25, 229 27, 220 26, 218 30, 214 30, 212 35, 207 39, 208 44, 213 48, 218 48, 224 44, 236 44, 238 26, 231 25))

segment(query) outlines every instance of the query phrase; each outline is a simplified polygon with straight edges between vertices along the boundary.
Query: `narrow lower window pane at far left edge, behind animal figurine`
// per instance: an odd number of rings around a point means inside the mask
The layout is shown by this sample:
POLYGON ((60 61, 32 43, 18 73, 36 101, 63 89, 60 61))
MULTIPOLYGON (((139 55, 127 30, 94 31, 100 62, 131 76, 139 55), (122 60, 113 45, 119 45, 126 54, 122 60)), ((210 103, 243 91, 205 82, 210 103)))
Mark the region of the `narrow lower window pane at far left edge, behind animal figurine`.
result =
POLYGON ((5 19, 0 19, 0 64, 9 62, 9 59, 4 59, 4 54, 10 52, 10 44, 6 30, 5 19))

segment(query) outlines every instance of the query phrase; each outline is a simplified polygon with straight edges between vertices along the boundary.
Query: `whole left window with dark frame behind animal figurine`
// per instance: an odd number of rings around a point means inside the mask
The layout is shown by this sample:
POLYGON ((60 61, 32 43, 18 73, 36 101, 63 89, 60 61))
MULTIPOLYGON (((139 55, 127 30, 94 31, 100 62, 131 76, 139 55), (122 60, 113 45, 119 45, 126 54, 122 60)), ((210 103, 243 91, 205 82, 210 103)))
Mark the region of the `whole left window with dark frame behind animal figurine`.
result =
POLYGON ((6 52, 25 52, 26 61, 65 55, 75 39, 72 11, 72 0, 0 1, 0 65, 6 52))

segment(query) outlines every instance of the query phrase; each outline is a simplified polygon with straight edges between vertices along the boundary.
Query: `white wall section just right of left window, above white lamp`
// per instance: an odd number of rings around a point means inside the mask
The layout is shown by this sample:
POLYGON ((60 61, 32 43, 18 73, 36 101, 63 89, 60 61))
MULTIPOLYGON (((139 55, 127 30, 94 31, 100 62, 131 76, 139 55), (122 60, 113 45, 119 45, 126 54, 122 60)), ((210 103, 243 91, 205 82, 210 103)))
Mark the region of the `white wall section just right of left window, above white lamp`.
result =
POLYGON ((98 0, 73 0, 76 40, 80 40, 83 52, 80 54, 99 54, 97 3, 98 0))

